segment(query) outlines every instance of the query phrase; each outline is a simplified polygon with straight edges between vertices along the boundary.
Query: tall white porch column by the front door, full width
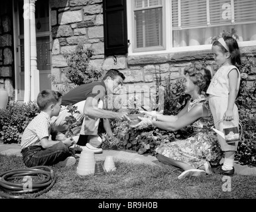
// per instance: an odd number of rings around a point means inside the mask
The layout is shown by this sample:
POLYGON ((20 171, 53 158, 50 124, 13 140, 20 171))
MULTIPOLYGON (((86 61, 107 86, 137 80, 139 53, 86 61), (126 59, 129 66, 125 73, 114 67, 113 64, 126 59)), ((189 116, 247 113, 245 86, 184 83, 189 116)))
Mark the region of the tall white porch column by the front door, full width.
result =
POLYGON ((36 62, 36 0, 24 0, 25 94, 24 102, 34 101, 40 91, 36 62))

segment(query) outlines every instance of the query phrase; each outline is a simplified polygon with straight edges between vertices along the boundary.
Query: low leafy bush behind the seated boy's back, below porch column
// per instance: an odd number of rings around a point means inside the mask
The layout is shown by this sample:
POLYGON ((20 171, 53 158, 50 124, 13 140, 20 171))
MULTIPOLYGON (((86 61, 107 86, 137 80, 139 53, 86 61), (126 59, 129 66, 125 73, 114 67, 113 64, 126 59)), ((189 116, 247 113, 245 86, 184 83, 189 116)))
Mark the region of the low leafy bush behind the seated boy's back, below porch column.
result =
POLYGON ((30 121, 40 113, 35 102, 7 105, 0 109, 0 138, 4 143, 20 143, 23 131, 30 121))

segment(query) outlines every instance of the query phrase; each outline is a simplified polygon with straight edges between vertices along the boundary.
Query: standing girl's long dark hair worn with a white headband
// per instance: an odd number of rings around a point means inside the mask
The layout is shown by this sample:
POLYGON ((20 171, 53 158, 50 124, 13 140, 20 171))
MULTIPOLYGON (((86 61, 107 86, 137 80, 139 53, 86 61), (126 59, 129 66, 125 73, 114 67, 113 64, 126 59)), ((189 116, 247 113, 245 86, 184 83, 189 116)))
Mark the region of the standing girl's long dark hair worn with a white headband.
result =
POLYGON ((220 46, 220 50, 225 53, 229 52, 230 53, 230 59, 231 59, 231 64, 233 66, 236 66, 239 68, 241 66, 241 56, 240 56, 240 50, 239 46, 237 44, 236 36, 235 34, 231 34, 229 32, 222 32, 220 36, 214 37, 212 46, 220 46), (227 44, 227 47, 229 51, 227 51, 224 46, 218 41, 218 38, 222 37, 225 41, 225 44, 227 44))

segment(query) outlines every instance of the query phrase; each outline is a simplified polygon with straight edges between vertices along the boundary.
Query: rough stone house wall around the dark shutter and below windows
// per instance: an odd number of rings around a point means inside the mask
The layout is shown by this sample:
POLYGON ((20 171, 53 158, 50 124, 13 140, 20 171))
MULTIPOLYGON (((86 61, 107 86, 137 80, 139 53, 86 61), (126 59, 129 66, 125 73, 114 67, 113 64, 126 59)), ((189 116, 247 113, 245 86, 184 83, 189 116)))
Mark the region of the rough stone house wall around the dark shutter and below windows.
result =
MULTIPOLYGON (((113 56, 104 56, 101 0, 51 0, 50 7, 54 43, 52 74, 55 74, 60 81, 65 79, 62 70, 67 68, 63 54, 72 52, 80 40, 84 40, 86 46, 94 48, 95 55, 91 60, 93 66, 103 72, 115 68, 125 74, 124 85, 128 95, 125 99, 129 99, 134 92, 145 91, 143 87, 155 87, 156 72, 160 73, 162 83, 165 77, 175 80, 182 76, 185 66, 204 58, 209 60, 212 64, 209 68, 214 70, 214 60, 210 50, 143 56, 118 55, 115 61, 113 56)), ((256 46, 241 48, 241 52, 243 58, 245 55, 256 57, 256 46)), ((251 82, 256 79, 256 68, 253 68, 253 73, 249 76, 251 82)), ((144 98, 149 98, 149 93, 146 92, 144 98)))

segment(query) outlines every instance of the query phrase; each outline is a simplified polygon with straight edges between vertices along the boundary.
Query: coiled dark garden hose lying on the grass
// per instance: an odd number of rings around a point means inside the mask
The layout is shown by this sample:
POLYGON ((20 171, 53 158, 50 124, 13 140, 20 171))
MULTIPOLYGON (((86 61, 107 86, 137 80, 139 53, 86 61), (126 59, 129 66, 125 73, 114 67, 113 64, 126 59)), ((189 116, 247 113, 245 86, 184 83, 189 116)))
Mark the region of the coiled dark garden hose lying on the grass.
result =
POLYGON ((48 166, 10 170, 0 174, 0 196, 11 199, 23 199, 23 194, 32 193, 32 198, 37 197, 49 191, 55 181, 56 176, 48 166), (39 180, 35 178, 39 178, 39 180), (19 179, 25 183, 11 182, 19 179))

